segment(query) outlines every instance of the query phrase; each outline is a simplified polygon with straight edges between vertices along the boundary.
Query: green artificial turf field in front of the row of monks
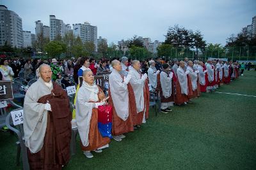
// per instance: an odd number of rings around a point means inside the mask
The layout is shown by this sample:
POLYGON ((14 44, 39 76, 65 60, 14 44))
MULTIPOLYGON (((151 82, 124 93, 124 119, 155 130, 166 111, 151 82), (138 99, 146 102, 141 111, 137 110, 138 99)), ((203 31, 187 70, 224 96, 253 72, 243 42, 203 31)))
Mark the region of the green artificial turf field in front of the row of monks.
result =
MULTIPOLYGON (((212 92, 157 117, 152 109, 147 124, 92 159, 77 136, 76 155, 64 169, 256 169, 256 71, 216 91, 248 96, 212 92)), ((0 169, 21 169, 16 140, 0 132, 0 169)))

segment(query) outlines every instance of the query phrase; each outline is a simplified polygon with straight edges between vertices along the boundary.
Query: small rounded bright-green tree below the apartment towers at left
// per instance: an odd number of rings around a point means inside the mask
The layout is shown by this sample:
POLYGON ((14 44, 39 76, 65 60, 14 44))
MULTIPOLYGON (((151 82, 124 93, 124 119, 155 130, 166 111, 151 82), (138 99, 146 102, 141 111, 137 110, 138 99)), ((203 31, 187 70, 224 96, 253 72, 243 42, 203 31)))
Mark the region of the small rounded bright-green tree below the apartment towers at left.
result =
POLYGON ((45 51, 49 57, 60 57, 60 54, 66 51, 66 46, 60 41, 50 41, 45 45, 45 51))

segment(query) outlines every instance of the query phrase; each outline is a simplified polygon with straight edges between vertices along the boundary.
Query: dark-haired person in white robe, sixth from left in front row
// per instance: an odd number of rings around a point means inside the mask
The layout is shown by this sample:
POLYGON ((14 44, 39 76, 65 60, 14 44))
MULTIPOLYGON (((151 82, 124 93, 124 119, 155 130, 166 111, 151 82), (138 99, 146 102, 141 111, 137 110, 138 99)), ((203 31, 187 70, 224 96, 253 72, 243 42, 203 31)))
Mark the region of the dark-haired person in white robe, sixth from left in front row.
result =
POLYGON ((161 82, 161 112, 168 113, 172 111, 170 106, 173 106, 172 102, 172 77, 173 73, 170 71, 169 64, 163 64, 163 71, 160 73, 161 82))

